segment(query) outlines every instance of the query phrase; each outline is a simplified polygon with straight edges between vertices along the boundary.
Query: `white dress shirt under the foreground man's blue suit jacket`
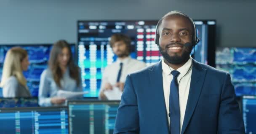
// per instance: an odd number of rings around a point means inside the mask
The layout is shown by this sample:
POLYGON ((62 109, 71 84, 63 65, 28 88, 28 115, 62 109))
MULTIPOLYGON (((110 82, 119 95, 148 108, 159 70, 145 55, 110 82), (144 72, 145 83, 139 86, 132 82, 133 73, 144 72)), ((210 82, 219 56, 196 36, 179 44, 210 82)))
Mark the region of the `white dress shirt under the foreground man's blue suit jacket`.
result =
MULTIPOLYGON (((177 69, 177 71, 180 72, 177 80, 179 82, 179 108, 180 108, 180 131, 182 128, 182 124, 184 121, 186 106, 187 106, 187 99, 189 96, 189 87, 190 87, 190 81, 191 81, 191 75, 192 75, 192 57, 189 58, 189 60, 180 68, 177 69), (189 69, 190 68, 190 69, 189 69), (188 73, 187 73, 188 72, 188 73), (186 75, 187 73, 187 75, 186 75), (185 76, 184 76, 185 75, 185 76), (184 76, 184 77, 183 77, 184 76), (181 77, 183 77, 181 79, 181 77)), ((169 95, 170 95, 170 86, 171 81, 173 80, 173 75, 171 75, 171 70, 174 70, 173 68, 169 68, 167 64, 165 64, 164 60, 162 59, 162 69, 163 69, 163 92, 165 97, 165 106, 167 111, 167 118, 168 123, 170 127, 170 117, 168 116, 169 111, 169 95)))

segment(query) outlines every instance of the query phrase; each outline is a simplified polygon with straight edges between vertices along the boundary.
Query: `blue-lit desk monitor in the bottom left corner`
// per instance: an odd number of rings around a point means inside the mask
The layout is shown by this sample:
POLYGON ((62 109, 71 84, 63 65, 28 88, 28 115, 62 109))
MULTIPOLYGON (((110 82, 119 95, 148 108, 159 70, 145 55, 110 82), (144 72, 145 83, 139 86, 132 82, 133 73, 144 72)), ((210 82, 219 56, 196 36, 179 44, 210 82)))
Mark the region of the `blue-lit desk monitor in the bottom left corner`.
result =
POLYGON ((1 134, 68 134, 67 107, 0 108, 1 134))

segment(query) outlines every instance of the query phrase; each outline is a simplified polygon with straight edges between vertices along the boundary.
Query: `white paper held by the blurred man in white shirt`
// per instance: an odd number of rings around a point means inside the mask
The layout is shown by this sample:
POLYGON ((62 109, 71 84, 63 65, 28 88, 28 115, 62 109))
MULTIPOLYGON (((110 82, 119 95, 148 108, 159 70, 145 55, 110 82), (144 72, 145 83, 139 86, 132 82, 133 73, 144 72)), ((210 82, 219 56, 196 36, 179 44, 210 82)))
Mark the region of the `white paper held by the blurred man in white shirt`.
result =
POLYGON ((108 100, 121 100, 122 91, 117 87, 113 87, 112 90, 105 90, 104 94, 108 100))

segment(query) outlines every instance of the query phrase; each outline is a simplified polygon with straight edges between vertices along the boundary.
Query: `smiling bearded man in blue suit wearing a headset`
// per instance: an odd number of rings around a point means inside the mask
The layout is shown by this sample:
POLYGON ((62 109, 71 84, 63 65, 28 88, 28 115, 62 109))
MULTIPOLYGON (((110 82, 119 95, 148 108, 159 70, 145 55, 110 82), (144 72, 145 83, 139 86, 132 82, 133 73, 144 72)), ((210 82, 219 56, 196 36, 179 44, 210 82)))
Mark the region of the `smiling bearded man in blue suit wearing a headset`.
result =
POLYGON ((195 24, 179 11, 157 24, 163 59, 126 77, 114 134, 244 134, 230 75, 196 62, 195 24))

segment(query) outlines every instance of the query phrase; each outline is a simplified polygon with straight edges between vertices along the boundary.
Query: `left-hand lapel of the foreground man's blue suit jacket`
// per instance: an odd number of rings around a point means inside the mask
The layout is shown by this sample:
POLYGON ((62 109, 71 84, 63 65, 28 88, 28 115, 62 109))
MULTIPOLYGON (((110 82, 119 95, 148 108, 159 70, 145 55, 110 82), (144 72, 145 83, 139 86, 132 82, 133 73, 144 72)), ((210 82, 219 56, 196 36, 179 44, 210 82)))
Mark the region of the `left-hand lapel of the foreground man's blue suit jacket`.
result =
POLYGON ((149 69, 149 81, 151 87, 149 87, 150 94, 154 95, 151 100, 155 104, 153 107, 157 109, 157 111, 164 111, 163 113, 152 113, 152 114, 160 114, 160 118, 155 121, 157 124, 161 123, 163 129, 159 130, 159 133, 168 133, 168 120, 165 106, 165 98, 163 93, 163 75, 162 75, 162 64, 161 61, 157 62, 152 68, 149 69))

